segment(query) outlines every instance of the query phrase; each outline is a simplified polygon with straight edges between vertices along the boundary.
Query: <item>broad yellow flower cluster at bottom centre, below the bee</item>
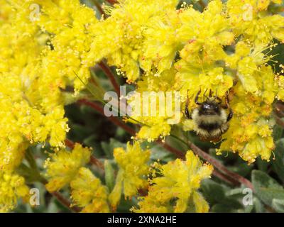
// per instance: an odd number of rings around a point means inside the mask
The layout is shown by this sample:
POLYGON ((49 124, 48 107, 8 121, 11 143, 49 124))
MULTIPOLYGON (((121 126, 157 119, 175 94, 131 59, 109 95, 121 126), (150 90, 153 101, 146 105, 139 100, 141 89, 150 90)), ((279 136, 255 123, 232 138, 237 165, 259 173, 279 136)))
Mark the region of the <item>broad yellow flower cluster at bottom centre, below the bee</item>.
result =
POLYGON ((147 196, 138 202, 135 212, 197 212, 209 211, 209 205, 197 192, 202 179, 210 177, 212 165, 203 164, 192 151, 187 151, 186 160, 177 159, 168 164, 155 162, 157 169, 147 196), (156 175, 161 175, 160 177, 156 175))

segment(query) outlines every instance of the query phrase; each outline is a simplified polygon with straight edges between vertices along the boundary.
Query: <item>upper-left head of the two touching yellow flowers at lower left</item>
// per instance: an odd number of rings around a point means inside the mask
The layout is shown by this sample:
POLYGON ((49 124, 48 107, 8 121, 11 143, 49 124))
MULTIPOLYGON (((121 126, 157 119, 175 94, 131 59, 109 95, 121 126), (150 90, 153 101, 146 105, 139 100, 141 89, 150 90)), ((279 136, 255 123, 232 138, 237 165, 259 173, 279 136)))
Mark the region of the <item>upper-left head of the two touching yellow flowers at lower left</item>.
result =
POLYGON ((45 184, 49 192, 60 190, 74 179, 80 167, 89 162, 91 151, 83 148, 79 143, 75 144, 72 151, 60 150, 51 154, 51 160, 45 160, 46 176, 48 184, 45 184))

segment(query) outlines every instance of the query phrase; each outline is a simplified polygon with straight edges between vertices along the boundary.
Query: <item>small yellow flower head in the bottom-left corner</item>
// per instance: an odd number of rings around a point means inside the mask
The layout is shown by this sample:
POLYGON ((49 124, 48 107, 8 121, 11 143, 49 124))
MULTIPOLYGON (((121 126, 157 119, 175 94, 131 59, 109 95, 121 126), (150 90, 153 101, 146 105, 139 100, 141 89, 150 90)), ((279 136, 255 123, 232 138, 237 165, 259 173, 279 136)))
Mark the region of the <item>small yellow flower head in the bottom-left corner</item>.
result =
POLYGON ((8 212, 17 205, 18 198, 28 200, 25 179, 15 173, 0 172, 0 212, 8 212))

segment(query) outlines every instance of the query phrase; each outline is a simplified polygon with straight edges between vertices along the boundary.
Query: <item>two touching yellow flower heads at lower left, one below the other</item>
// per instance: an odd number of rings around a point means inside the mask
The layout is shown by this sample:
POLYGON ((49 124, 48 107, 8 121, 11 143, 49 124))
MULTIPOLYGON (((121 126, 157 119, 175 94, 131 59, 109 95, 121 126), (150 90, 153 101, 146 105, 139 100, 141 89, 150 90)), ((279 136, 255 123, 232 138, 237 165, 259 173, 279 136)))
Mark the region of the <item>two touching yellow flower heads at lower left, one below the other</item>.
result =
POLYGON ((73 150, 60 150, 45 161, 49 192, 55 192, 70 185, 72 206, 82 207, 84 213, 109 212, 107 187, 84 167, 90 160, 91 151, 79 143, 73 150))

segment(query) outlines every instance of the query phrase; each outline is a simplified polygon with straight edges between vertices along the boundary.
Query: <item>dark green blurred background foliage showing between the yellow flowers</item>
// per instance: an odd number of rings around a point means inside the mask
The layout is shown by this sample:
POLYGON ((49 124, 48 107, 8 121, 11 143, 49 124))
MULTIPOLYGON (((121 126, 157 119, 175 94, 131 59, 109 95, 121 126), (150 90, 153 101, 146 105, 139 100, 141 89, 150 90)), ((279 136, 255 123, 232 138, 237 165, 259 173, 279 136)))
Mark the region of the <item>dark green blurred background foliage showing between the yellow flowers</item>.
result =
MULTIPOLYGON (((165 0, 166 1, 166 0, 165 0)), ((103 1, 99 1, 102 3, 103 1)), ((180 1, 180 5, 184 1, 180 1)), ((193 4, 195 9, 202 10, 202 5, 199 1, 185 1, 187 4, 193 4)), ((82 3, 92 7, 95 11, 97 8, 92 0, 84 0, 82 3)), ((204 5, 207 5, 207 1, 203 1, 204 5)), ((106 3, 107 4, 107 3, 106 3)), ((271 9, 276 11, 278 9, 271 9)), ((99 11, 97 11, 99 15, 99 11)), ((278 43, 276 48, 271 52, 275 55, 274 60, 277 63, 271 62, 274 65, 275 72, 280 72, 278 65, 284 65, 284 44, 278 43)), ((104 75, 104 72, 99 67, 94 67, 96 76, 99 78, 99 82, 106 91, 113 90, 109 79, 104 75)), ((111 69, 114 74, 116 71, 111 69)), ((126 79, 117 77, 119 84, 126 84, 126 79)), ((135 89, 133 85, 127 84, 127 91, 135 89)), ((283 111, 284 111, 284 104, 283 111)), ((68 138, 72 141, 82 143, 85 146, 93 148, 93 155, 100 160, 109 160, 110 165, 113 159, 113 150, 118 147, 126 147, 126 142, 131 140, 131 135, 124 131, 122 128, 115 126, 105 116, 102 116, 89 106, 80 106, 78 104, 70 104, 65 107, 65 116, 69 119, 69 127, 71 128, 68 138)), ((283 112, 284 116, 284 112, 283 112)), ((278 118, 283 116, 278 116, 278 118)), ((137 126, 129 124, 133 129, 137 126)), ((136 129, 137 131, 137 129, 136 129)), ((181 133, 181 132, 179 132, 181 133)), ((175 133, 177 134, 177 133, 175 133)), ((207 199, 211 212, 284 212, 284 132, 283 126, 275 125, 273 129, 273 136, 275 140, 276 148, 274 150, 273 158, 271 162, 266 162, 258 158, 256 162, 251 165, 247 165, 247 162, 241 160, 239 155, 233 153, 227 153, 224 155, 216 155, 214 148, 218 147, 212 143, 204 143, 195 135, 195 133, 188 133, 189 138, 193 143, 202 148, 212 157, 222 162, 229 170, 238 173, 239 175, 251 180, 255 192, 253 193, 253 205, 244 206, 243 199, 244 187, 232 187, 229 184, 221 181, 217 177, 212 179, 206 179, 202 182, 201 192, 207 199)), ((167 142, 178 150, 186 151, 185 145, 181 144, 174 138, 167 138, 167 142)), ((175 160, 175 155, 169 153, 160 145, 143 143, 146 148, 149 146, 152 150, 151 159, 160 160, 161 163, 175 160)), ((43 166, 43 160, 47 157, 45 150, 47 146, 42 148, 42 145, 37 145, 32 148, 35 153, 36 162, 38 166, 43 166)), ((27 164, 28 165, 28 164, 27 164)), ((89 166, 94 175, 99 177, 104 184, 106 179, 102 170, 97 167, 89 166)), ((115 165, 111 165, 115 168, 115 165)), ((62 206, 60 202, 55 199, 54 196, 46 192, 43 184, 33 183, 31 187, 36 187, 40 191, 40 205, 31 208, 29 204, 18 204, 17 209, 14 212, 70 212, 65 206, 62 206)), ((68 197, 68 191, 62 190, 63 195, 68 197)), ((137 203, 136 199, 131 201, 121 201, 117 212, 129 212, 131 206, 137 203)))

